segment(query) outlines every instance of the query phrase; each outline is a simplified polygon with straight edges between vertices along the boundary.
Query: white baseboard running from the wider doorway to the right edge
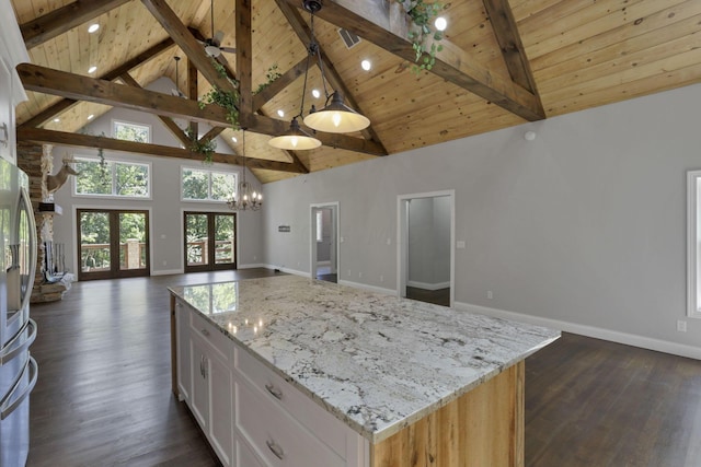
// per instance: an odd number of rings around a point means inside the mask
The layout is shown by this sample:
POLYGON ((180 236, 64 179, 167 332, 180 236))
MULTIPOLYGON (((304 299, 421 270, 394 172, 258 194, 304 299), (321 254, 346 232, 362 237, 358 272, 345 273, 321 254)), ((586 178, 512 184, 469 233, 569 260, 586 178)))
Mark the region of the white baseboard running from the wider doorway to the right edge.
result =
POLYGON ((581 336, 587 336, 596 339, 609 340, 611 342, 624 343, 627 346, 640 347, 643 349, 701 360, 701 347, 687 346, 683 343, 670 342, 668 340, 654 339, 651 337, 637 336, 634 334, 619 332, 616 330, 581 325, 576 323, 567 323, 559 319, 525 315, 522 313, 507 312, 505 310, 473 305, 471 303, 455 302, 453 307, 466 312, 528 323, 536 326, 544 326, 549 328, 560 329, 565 332, 578 334, 581 336))

